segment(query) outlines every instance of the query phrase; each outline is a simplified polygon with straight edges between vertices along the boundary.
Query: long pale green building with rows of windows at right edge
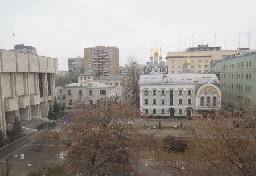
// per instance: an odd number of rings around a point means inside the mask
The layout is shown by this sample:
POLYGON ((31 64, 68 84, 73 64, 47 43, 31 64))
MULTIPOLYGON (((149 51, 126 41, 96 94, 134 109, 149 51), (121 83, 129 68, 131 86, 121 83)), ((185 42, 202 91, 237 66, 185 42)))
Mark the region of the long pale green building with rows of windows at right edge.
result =
POLYGON ((222 103, 236 108, 240 102, 255 104, 256 52, 240 52, 216 62, 214 72, 220 76, 222 103))

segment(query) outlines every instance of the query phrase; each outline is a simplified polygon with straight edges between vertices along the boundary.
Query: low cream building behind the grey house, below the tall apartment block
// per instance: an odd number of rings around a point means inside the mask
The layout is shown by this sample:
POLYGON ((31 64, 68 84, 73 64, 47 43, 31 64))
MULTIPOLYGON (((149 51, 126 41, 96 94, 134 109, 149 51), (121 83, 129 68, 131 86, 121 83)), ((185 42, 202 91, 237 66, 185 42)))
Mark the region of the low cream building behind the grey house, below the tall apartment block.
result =
POLYGON ((111 84, 116 86, 118 89, 123 89, 125 76, 118 75, 100 75, 94 72, 86 72, 78 76, 78 83, 88 83, 88 82, 100 82, 103 84, 111 84))

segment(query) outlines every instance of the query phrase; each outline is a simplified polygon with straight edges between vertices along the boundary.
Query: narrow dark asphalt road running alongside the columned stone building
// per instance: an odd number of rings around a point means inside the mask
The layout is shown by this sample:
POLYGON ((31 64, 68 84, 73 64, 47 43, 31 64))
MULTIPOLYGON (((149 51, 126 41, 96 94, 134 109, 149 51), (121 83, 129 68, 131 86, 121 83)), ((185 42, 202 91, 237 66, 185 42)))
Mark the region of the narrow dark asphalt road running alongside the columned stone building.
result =
MULTIPOLYGON (((64 118, 61 118, 60 120, 58 120, 56 123, 48 122, 48 128, 54 128, 54 127, 56 127, 60 124, 63 124, 64 121, 69 121, 72 118, 74 118, 74 114, 70 114, 68 116, 65 116, 64 118)), ((24 138, 14 142, 10 146, 1 149, 0 150, 0 160, 4 160, 6 158, 6 156, 12 154, 16 150, 20 149, 21 147, 25 146, 26 144, 31 143, 34 139, 38 138, 38 136, 40 134, 42 134, 42 132, 44 132, 45 127, 47 127, 47 122, 38 126, 38 132, 37 133, 27 135, 24 138)))

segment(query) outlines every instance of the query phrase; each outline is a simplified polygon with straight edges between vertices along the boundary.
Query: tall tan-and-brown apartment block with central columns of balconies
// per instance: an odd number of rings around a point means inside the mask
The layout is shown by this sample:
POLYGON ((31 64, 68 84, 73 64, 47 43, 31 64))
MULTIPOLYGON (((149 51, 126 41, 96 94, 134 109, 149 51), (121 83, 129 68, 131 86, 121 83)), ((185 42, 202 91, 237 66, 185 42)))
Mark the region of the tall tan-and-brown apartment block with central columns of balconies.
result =
POLYGON ((86 72, 95 72, 101 75, 118 75, 119 49, 116 46, 84 48, 84 65, 86 72))

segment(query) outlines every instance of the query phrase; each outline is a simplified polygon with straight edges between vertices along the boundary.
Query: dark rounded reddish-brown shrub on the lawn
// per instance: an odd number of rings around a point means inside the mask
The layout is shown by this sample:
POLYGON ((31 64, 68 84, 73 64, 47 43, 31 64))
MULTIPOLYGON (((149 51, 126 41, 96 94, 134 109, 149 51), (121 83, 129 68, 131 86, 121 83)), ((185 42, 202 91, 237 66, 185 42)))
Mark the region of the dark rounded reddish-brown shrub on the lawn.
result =
POLYGON ((184 149, 187 146, 184 138, 175 137, 171 135, 167 135, 162 141, 165 144, 164 150, 168 152, 171 152, 171 151, 184 152, 184 149))

